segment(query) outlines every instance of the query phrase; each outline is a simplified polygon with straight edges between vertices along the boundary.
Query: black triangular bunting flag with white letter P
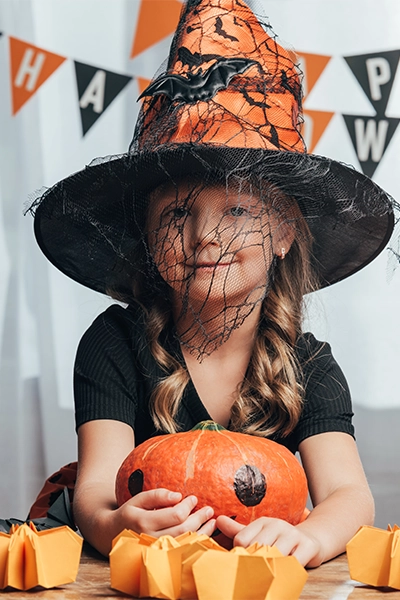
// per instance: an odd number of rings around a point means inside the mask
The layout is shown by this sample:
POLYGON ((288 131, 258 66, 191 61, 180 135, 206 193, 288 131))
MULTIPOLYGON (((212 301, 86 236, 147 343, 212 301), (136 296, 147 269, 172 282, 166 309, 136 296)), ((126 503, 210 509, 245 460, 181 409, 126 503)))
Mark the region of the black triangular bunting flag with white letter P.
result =
POLYGON ((383 117, 400 59, 400 50, 344 57, 376 114, 383 117))

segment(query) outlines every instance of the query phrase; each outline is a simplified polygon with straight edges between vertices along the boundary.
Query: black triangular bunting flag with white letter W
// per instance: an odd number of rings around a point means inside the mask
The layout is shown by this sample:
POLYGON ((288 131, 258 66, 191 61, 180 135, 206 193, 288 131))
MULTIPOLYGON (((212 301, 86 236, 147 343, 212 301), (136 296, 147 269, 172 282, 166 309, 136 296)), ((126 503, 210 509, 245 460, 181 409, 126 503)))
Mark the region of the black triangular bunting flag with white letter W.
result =
POLYGON ((361 169, 372 177, 400 119, 343 115, 361 169))

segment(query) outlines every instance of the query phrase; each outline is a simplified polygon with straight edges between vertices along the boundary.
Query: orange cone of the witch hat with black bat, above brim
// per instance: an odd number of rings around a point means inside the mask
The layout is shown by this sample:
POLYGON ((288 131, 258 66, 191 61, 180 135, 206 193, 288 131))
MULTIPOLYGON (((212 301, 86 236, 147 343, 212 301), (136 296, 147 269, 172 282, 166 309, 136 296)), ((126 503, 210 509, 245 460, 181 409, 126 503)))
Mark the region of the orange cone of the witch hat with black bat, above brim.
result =
POLYGON ((139 147, 202 143, 305 151, 293 59, 238 0, 189 3, 167 72, 142 96, 139 147))

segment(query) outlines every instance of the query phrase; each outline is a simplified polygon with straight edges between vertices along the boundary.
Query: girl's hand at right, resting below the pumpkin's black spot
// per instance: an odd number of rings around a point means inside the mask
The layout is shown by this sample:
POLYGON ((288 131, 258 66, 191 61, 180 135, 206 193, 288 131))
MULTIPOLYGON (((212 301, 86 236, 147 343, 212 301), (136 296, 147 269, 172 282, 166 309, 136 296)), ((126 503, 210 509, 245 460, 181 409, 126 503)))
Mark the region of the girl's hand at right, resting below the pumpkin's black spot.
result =
POLYGON ((283 555, 295 556, 303 566, 311 563, 321 550, 317 539, 281 519, 261 517, 249 525, 241 525, 229 517, 221 516, 217 518, 216 526, 233 540, 234 546, 247 548, 255 542, 276 546, 283 555))

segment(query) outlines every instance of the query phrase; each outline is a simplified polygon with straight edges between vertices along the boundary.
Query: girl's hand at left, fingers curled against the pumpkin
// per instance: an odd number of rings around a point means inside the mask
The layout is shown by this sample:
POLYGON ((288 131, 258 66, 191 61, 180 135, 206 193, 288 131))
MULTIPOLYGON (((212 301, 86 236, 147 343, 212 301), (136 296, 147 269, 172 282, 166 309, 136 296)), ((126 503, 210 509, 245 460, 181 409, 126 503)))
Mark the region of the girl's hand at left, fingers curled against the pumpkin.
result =
POLYGON ((211 535, 215 528, 214 514, 210 506, 194 511, 196 496, 182 499, 182 494, 160 488, 141 492, 114 512, 116 529, 132 529, 154 537, 197 531, 211 535))

